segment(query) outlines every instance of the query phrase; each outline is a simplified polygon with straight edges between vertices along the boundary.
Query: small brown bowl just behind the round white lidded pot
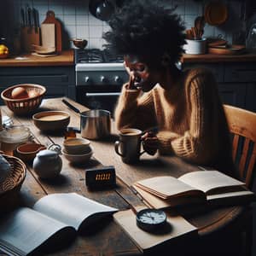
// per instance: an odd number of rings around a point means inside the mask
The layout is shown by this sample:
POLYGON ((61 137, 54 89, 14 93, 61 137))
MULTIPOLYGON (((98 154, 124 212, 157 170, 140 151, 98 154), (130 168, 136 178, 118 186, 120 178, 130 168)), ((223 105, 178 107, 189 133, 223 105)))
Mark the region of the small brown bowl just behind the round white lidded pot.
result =
POLYGON ((43 149, 46 149, 46 147, 42 144, 26 143, 26 144, 21 144, 16 149, 16 151, 17 151, 17 156, 21 160, 25 162, 30 162, 36 157, 36 154, 38 154, 38 152, 43 149))

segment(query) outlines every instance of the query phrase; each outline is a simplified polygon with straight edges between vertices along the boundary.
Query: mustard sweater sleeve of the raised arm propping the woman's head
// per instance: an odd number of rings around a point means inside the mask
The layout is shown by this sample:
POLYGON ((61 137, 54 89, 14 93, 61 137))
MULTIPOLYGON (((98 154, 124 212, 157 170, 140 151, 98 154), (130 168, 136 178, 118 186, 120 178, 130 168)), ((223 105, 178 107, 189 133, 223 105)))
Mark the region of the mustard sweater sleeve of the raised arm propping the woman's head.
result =
POLYGON ((156 125, 154 117, 154 102, 149 91, 142 95, 141 90, 127 90, 123 86, 114 118, 117 129, 137 128, 145 130, 156 125))

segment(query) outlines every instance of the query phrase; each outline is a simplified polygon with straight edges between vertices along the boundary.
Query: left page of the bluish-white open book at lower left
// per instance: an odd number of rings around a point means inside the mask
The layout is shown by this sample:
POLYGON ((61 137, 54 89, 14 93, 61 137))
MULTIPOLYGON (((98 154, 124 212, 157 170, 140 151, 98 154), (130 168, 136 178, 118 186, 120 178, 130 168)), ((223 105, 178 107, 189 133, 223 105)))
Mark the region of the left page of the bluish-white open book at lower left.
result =
POLYGON ((9 255, 26 255, 63 229, 74 230, 40 212, 22 207, 1 219, 0 248, 9 255))

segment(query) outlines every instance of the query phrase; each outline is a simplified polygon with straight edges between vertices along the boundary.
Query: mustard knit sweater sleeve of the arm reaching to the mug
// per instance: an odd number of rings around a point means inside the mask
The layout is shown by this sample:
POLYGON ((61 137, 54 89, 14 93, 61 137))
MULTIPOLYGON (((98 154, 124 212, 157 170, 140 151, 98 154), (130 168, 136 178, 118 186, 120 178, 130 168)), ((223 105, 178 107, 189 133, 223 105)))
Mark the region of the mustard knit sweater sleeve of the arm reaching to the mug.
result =
POLYGON ((217 144, 214 138, 218 131, 214 125, 218 123, 218 94, 212 88, 216 88, 216 82, 211 73, 201 73, 189 81, 186 86, 187 104, 191 109, 189 130, 181 135, 160 131, 160 152, 174 153, 201 164, 215 156, 217 144))

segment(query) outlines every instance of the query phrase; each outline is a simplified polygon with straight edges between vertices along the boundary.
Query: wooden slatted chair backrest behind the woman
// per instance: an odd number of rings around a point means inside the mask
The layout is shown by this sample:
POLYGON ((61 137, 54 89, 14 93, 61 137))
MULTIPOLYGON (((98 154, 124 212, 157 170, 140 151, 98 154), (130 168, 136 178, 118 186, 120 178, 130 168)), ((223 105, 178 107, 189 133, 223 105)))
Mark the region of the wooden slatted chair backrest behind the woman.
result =
POLYGON ((233 137, 233 160, 241 180, 252 189, 256 160, 256 113, 229 105, 224 105, 224 112, 233 137))

